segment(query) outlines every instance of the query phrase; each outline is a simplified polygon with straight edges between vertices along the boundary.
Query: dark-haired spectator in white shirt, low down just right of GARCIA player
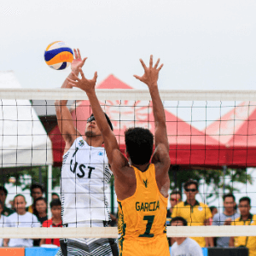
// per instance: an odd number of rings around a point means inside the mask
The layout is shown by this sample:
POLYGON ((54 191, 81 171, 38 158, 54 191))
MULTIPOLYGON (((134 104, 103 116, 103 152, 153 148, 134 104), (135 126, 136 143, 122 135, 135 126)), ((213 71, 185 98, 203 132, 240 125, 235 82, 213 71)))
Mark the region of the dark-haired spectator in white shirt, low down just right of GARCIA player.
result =
MULTIPOLYGON (((171 226, 187 226, 187 221, 182 217, 171 220, 171 226)), ((172 256, 203 256, 200 245, 188 237, 173 237, 175 242, 171 247, 172 256)))

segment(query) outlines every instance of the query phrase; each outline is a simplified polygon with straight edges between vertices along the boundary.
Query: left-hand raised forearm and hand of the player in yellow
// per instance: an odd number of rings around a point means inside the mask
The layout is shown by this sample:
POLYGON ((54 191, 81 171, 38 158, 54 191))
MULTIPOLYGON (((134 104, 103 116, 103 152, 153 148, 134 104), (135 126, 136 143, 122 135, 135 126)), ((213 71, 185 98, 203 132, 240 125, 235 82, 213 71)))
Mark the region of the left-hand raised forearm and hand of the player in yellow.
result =
POLYGON ((119 145, 117 143, 116 137, 113 134, 113 131, 110 129, 108 125, 108 121, 105 117, 105 114, 102 111, 102 107, 100 102, 97 99, 95 86, 97 73, 94 74, 93 79, 86 79, 84 77, 84 73, 82 68, 79 68, 79 72, 81 74, 82 79, 79 79, 75 74, 75 80, 68 79, 70 84, 75 87, 79 87, 81 90, 84 90, 90 100, 90 107, 92 109, 92 113, 95 116, 96 124, 98 125, 100 131, 102 132, 102 137, 104 139, 105 149, 108 155, 108 163, 112 166, 113 163, 113 152, 114 149, 119 150, 119 145))

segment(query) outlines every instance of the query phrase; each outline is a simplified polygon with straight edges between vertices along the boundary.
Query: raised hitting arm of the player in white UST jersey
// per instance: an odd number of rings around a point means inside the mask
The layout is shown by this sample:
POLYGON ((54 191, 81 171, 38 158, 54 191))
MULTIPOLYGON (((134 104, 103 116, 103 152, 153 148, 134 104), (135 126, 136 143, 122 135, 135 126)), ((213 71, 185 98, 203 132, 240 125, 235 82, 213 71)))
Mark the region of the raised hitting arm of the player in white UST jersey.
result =
MULTIPOLYGON (((74 49, 75 59, 71 64, 72 73, 70 73, 67 79, 74 79, 74 73, 79 75, 79 67, 84 66, 84 60, 82 60, 79 49, 74 49)), ((72 85, 65 79, 61 88, 70 88, 72 89, 72 85)), ((73 144, 73 141, 80 136, 79 131, 73 125, 73 118, 69 109, 67 108, 67 100, 55 101, 55 111, 58 121, 58 126, 61 131, 62 137, 66 143, 66 148, 70 148, 73 144)))

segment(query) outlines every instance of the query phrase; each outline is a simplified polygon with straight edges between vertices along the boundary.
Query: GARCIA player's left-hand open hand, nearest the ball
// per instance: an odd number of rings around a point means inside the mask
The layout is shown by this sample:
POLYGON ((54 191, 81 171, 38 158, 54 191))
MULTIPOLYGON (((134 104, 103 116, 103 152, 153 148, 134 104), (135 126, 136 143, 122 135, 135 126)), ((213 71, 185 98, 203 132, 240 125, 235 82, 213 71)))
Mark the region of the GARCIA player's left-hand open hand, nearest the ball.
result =
POLYGON ((73 73, 74 79, 67 79, 69 83, 73 87, 78 87, 81 90, 84 90, 85 92, 90 92, 95 90, 96 80, 97 80, 97 73, 94 73, 93 79, 86 79, 84 77, 84 72, 81 67, 79 67, 79 73, 81 74, 82 79, 79 79, 79 77, 73 73))

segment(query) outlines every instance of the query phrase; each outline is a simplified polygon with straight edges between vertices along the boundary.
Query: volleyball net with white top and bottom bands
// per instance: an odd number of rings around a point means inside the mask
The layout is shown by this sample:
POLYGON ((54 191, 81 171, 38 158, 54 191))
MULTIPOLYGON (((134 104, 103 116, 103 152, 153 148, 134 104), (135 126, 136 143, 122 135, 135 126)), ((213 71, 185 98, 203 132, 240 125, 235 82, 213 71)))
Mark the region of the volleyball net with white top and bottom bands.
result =
MULTIPOLYGON (((96 90, 96 95, 112 121, 113 132, 123 153, 124 132, 129 127, 140 126, 154 133, 154 114, 148 90, 101 89, 96 90)), ((256 176, 256 92, 160 90, 160 97, 165 107, 170 145, 169 192, 178 189, 182 193, 181 201, 186 201, 183 184, 193 179, 199 182, 197 201, 224 212, 223 196, 232 193, 236 196, 236 205, 241 197, 250 198, 250 213, 256 213, 256 189, 253 189, 256 176)), ((69 101, 74 125, 82 134, 91 114, 90 102, 86 94, 77 89, 1 89, 0 98, 2 184, 9 184, 12 188, 8 195, 11 199, 17 194, 25 194, 18 189, 22 186, 44 183, 50 215, 53 182, 60 178, 55 176, 57 172, 53 172, 52 166, 60 168, 65 150, 56 123, 54 101, 69 101), (30 176, 29 170, 34 168, 47 172, 46 183, 38 176, 30 176), (19 173, 24 169, 28 171, 22 178, 27 180, 22 182, 19 173), (19 182, 10 185, 9 177, 16 177, 19 182)), ((108 184, 107 197, 110 212, 115 215, 117 203, 112 184, 108 184)), ((31 196, 30 192, 26 194, 31 196)), ((171 207, 170 203, 168 207, 171 207)), ((240 213, 239 207, 236 211, 240 213)), ((168 226, 167 236, 256 236, 256 230, 253 225, 168 226)), ((114 238, 118 237, 118 231, 116 227, 27 228, 21 225, 10 228, 3 227, 0 221, 0 238, 90 237, 114 238)))

